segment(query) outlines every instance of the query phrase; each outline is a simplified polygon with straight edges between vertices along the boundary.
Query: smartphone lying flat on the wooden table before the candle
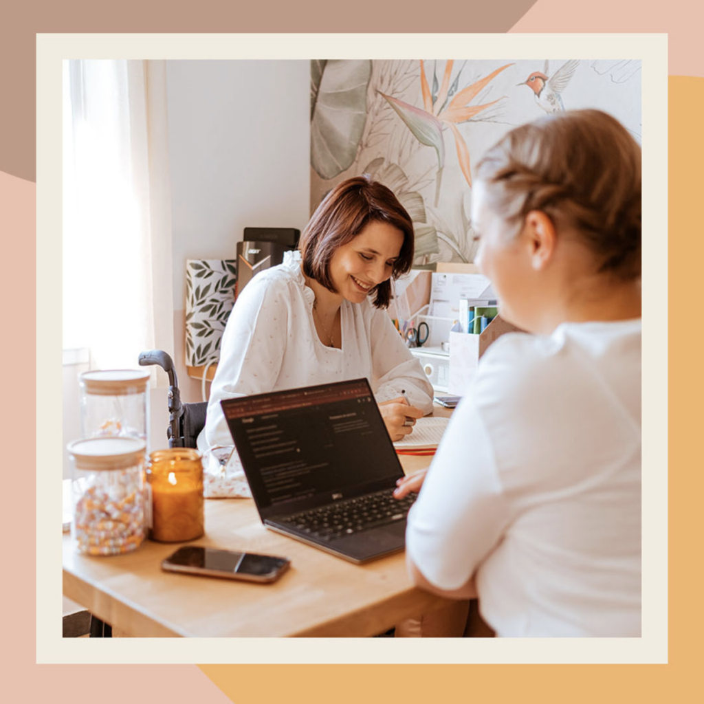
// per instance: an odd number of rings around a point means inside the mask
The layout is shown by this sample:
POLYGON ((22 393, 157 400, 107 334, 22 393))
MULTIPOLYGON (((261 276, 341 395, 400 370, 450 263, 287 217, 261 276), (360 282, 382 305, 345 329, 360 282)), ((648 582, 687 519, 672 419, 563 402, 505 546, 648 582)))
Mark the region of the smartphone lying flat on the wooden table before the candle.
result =
POLYGON ((275 555, 237 553, 194 545, 179 548, 161 562, 162 569, 169 572, 245 579, 247 582, 275 582, 290 566, 291 560, 275 555))

